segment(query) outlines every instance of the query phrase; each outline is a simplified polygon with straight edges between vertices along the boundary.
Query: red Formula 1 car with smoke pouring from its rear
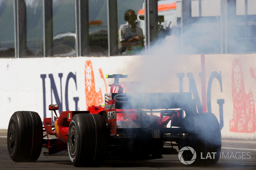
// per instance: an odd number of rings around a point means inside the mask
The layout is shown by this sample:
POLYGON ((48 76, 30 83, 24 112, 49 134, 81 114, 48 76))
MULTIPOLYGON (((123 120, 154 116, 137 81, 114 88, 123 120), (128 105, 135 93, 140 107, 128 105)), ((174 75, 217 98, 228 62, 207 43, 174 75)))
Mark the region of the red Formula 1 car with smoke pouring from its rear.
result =
POLYGON ((115 81, 105 103, 60 116, 58 105, 50 105, 54 125, 52 118, 42 124, 36 112, 15 112, 7 137, 11 159, 36 161, 43 146, 48 149, 44 155, 68 154, 74 166, 100 166, 107 157, 159 159, 163 153, 177 154, 173 146, 178 146, 183 163, 213 165, 219 160, 219 122, 212 113, 197 113, 191 93, 131 93, 128 83, 119 83, 127 76, 106 77, 115 81))

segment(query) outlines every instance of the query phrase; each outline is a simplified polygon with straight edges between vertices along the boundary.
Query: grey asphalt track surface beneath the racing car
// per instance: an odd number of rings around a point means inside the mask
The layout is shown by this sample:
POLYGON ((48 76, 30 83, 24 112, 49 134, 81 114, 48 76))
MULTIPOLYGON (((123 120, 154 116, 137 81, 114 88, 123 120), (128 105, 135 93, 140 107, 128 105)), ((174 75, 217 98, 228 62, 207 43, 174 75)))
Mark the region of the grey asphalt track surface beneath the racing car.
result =
POLYGON ((7 131, 0 130, 0 169, 256 169, 256 141, 222 140, 221 156, 214 166, 189 166, 180 162, 178 155, 163 155, 162 159, 125 161, 106 160, 101 167, 75 167, 68 156, 44 156, 42 153, 36 162, 17 163, 9 157, 7 149, 7 131))

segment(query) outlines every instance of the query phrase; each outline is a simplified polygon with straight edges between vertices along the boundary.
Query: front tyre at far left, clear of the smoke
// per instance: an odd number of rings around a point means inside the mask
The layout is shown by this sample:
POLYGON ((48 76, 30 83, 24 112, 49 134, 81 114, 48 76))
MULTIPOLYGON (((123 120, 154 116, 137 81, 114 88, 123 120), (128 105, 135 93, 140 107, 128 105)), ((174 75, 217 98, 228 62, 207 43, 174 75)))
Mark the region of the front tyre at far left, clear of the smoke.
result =
POLYGON ((38 113, 15 112, 9 122, 7 146, 15 162, 36 161, 42 150, 43 125, 38 113))

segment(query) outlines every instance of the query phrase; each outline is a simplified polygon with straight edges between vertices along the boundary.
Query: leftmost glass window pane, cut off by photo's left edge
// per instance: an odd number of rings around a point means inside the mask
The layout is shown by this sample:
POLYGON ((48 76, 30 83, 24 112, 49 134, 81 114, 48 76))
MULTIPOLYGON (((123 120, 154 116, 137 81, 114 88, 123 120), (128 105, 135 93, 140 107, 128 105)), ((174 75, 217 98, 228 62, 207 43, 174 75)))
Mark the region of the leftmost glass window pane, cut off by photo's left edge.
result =
POLYGON ((0 0, 0 57, 14 57, 13 1, 0 0))

